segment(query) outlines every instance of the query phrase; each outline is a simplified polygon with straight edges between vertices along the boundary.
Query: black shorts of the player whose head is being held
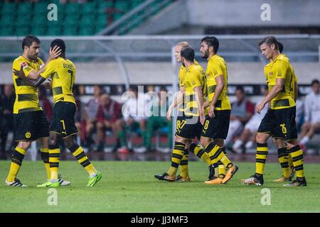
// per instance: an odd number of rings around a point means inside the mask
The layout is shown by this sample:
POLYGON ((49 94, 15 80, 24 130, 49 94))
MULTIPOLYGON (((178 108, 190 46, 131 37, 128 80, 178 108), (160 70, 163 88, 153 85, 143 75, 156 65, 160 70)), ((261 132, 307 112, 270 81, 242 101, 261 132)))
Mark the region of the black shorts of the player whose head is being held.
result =
POLYGON ((53 106, 50 133, 58 133, 63 138, 78 133, 75 127, 75 109, 75 104, 70 101, 58 101, 53 106))

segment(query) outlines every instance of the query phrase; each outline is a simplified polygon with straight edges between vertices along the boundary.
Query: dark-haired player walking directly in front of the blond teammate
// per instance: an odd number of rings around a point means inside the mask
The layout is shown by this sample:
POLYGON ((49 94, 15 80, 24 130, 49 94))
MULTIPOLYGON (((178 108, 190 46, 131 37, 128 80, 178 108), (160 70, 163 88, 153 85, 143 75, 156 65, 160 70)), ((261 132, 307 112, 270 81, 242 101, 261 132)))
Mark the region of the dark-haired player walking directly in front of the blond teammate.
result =
MULTIPOLYGON (((183 77, 183 111, 177 118, 176 138, 171 157, 171 167, 162 175, 154 176, 157 179, 169 182, 176 181, 176 172, 178 165, 181 164, 183 155, 185 155, 186 143, 200 134, 202 128, 201 121, 202 123, 204 121, 203 89, 206 89, 206 84, 203 68, 195 64, 194 50, 192 48, 182 48, 180 54, 183 67, 186 67, 186 74, 183 77)), ((174 105, 177 104, 178 103, 174 105)), ((187 180, 185 179, 184 181, 187 180)))

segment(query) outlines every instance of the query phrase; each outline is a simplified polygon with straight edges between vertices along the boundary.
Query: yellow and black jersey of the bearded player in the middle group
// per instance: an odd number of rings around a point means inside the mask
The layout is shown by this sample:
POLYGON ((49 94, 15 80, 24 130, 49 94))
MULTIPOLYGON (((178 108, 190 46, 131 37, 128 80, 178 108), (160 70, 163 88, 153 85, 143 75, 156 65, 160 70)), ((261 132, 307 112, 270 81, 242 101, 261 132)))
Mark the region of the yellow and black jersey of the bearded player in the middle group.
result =
POLYGON ((218 75, 223 75, 225 86, 223 87, 223 91, 221 92, 215 104, 215 110, 228 110, 231 109, 231 104, 228 98, 227 64, 225 63, 223 57, 220 57, 219 55, 213 55, 208 60, 208 66, 206 70, 208 101, 211 101, 215 95, 215 87, 217 87, 215 77, 218 77, 218 75))

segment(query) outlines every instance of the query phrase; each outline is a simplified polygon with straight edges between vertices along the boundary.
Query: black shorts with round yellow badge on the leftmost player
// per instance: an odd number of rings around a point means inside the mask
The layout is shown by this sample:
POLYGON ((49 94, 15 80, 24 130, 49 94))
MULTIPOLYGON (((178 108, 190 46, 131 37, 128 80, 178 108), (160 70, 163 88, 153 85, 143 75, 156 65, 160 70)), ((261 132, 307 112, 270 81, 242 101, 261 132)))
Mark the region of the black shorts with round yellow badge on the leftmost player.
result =
POLYGON ((33 141, 49 136, 49 123, 43 111, 14 114, 16 141, 33 141))

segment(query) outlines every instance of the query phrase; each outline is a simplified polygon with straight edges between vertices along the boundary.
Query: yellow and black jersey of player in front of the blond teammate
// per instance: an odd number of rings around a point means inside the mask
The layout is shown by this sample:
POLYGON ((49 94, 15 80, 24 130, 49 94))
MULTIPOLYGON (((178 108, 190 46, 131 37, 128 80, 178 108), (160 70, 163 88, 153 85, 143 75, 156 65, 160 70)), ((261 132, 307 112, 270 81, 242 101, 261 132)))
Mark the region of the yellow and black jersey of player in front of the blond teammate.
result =
POLYGON ((196 95, 193 89, 195 87, 202 87, 203 101, 206 101, 206 77, 201 65, 191 65, 186 70, 184 77, 185 87, 185 114, 187 116, 198 116, 198 104, 196 102, 196 95))

